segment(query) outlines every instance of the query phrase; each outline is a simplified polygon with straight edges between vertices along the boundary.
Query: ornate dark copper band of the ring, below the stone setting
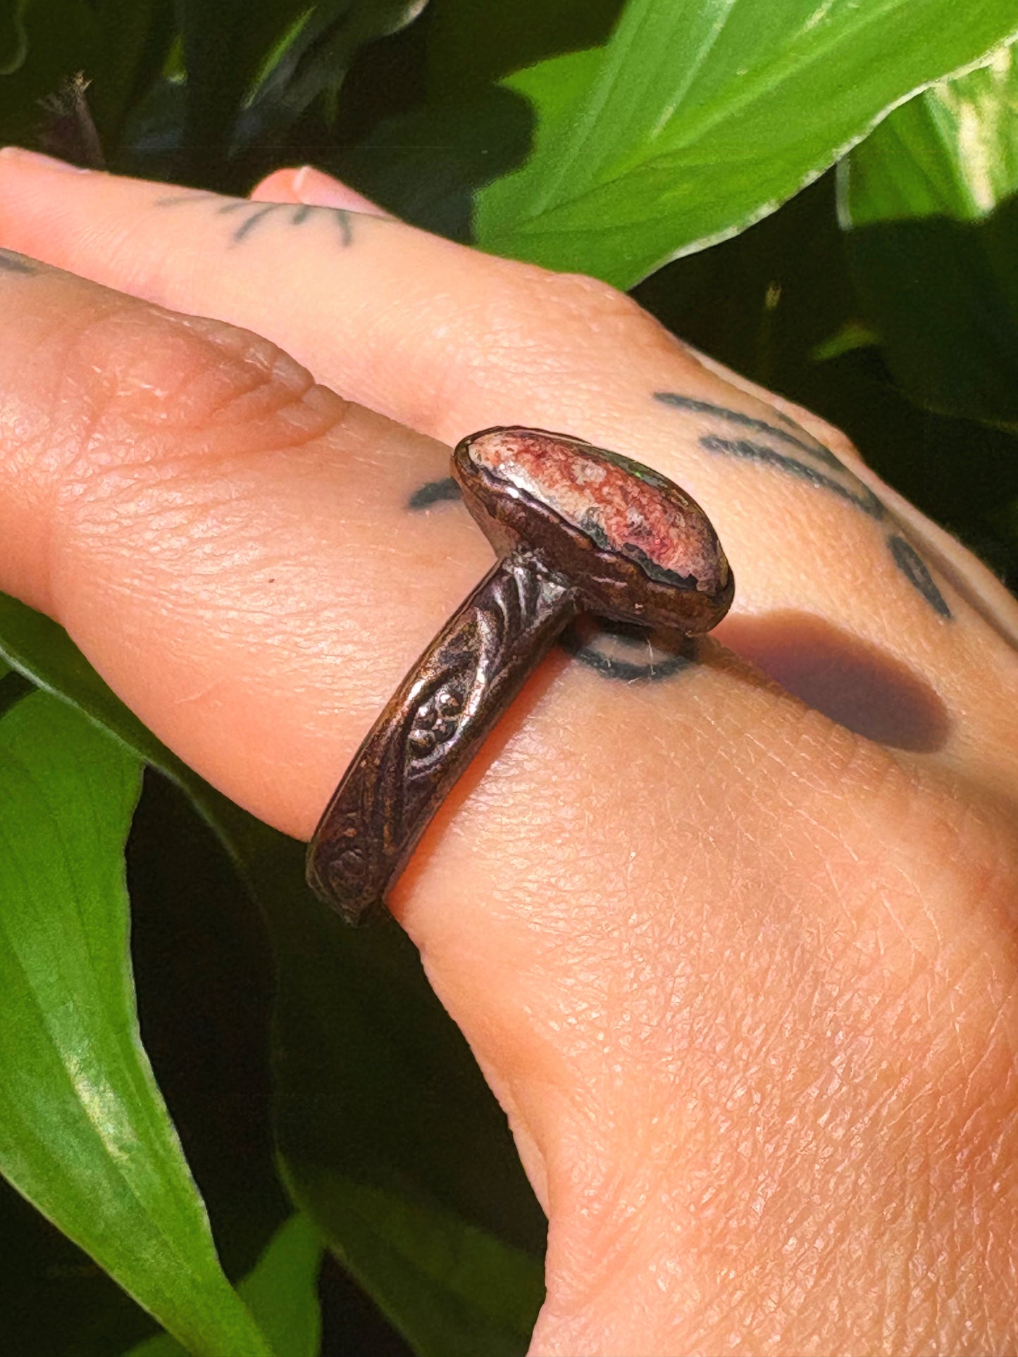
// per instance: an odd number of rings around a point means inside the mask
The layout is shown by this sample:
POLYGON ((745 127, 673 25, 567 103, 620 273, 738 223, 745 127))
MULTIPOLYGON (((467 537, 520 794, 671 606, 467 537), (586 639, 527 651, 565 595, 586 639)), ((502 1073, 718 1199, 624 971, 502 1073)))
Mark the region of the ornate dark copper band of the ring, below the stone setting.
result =
POLYGON ((536 661, 580 611, 532 551, 499 560, 361 744, 308 845, 308 885, 353 924, 384 904, 428 824, 536 661))

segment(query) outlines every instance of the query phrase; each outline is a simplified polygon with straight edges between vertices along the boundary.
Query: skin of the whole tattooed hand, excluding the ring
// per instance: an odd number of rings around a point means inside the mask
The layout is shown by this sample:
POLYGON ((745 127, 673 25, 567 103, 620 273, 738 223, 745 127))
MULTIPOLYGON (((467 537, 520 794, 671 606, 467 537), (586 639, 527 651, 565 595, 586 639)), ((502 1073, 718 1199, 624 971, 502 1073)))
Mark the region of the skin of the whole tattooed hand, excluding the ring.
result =
POLYGON ((1014 601, 604 285, 254 197, 0 156, 0 588, 307 837, 491 560, 448 445, 676 480, 717 641, 554 651, 392 901, 548 1212, 531 1352, 1014 1352, 1014 601))

